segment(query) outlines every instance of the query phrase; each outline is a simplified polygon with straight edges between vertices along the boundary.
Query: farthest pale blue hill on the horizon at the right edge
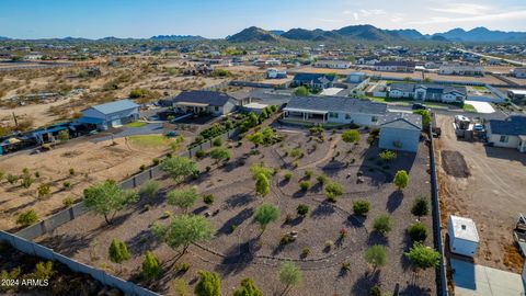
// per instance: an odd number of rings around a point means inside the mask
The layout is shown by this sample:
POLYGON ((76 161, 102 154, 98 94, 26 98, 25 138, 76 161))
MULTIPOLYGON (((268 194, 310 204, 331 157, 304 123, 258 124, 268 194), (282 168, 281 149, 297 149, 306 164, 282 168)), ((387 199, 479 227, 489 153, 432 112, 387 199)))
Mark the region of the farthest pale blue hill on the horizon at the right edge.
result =
POLYGON ((457 42, 526 42, 525 32, 491 31, 483 26, 470 31, 457 27, 433 36, 442 36, 457 42))

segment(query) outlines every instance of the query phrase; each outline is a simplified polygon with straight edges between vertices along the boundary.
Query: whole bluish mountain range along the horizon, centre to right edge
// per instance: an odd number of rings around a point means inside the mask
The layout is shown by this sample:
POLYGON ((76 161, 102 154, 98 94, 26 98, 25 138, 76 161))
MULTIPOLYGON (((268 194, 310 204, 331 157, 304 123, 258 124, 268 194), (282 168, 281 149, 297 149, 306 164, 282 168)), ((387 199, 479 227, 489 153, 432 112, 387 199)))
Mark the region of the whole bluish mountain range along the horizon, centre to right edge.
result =
POLYGON ((526 32, 491 31, 485 27, 476 27, 470 31, 454 29, 444 33, 422 34, 416 30, 382 30, 373 25, 351 25, 339 30, 325 31, 321 29, 306 30, 291 29, 289 31, 265 31, 251 26, 227 37, 229 42, 338 42, 338 41, 367 41, 367 42, 397 42, 397 41, 437 41, 437 42, 526 42, 526 32))

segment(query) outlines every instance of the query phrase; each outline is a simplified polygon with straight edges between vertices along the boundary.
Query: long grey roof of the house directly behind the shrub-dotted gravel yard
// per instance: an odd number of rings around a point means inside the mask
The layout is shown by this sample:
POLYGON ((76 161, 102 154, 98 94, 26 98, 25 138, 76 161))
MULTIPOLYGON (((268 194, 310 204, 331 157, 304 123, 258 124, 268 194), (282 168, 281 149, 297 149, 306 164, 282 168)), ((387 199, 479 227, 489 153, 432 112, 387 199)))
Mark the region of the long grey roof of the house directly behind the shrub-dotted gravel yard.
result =
POLYGON ((345 96, 294 96, 286 109, 384 114, 387 105, 345 96))

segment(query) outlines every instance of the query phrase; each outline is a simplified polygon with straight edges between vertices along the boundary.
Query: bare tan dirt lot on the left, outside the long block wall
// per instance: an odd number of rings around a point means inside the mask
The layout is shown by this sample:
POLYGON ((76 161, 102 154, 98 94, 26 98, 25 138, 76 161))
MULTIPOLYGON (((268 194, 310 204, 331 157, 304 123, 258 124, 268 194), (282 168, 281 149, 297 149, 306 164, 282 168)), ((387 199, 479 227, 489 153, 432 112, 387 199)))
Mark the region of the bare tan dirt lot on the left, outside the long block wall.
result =
MULTIPOLYGON (((190 136, 186 141, 190 143, 190 136)), ((0 229, 16 227, 15 220, 20 213, 33 208, 41 218, 64 208, 66 197, 79 200, 82 191, 93 182, 106 179, 123 180, 139 171, 141 164, 151 164, 152 159, 169 150, 165 146, 134 145, 125 138, 92 143, 85 138, 71 140, 57 146, 48 152, 30 155, 27 151, 3 156, 0 159, 0 171, 8 174, 22 174, 27 168, 35 180, 30 189, 24 189, 21 182, 10 184, 5 178, 0 182, 0 229), (69 170, 75 170, 71 175, 69 170), (39 173, 36 178, 35 172, 39 173), (69 182, 70 187, 64 183, 69 182), (37 187, 48 183, 50 196, 41 198, 37 187)))

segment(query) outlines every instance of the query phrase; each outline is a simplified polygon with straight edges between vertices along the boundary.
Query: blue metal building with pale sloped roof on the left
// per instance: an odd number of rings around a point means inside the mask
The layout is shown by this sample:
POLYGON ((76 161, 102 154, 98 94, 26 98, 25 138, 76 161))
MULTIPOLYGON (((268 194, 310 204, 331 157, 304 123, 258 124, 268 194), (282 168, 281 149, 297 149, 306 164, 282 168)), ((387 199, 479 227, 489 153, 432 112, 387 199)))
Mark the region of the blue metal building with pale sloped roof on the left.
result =
POLYGON ((93 125, 98 129, 105 130, 110 127, 121 127, 138 118, 139 105, 130 100, 119 100, 83 110, 77 123, 93 125))

